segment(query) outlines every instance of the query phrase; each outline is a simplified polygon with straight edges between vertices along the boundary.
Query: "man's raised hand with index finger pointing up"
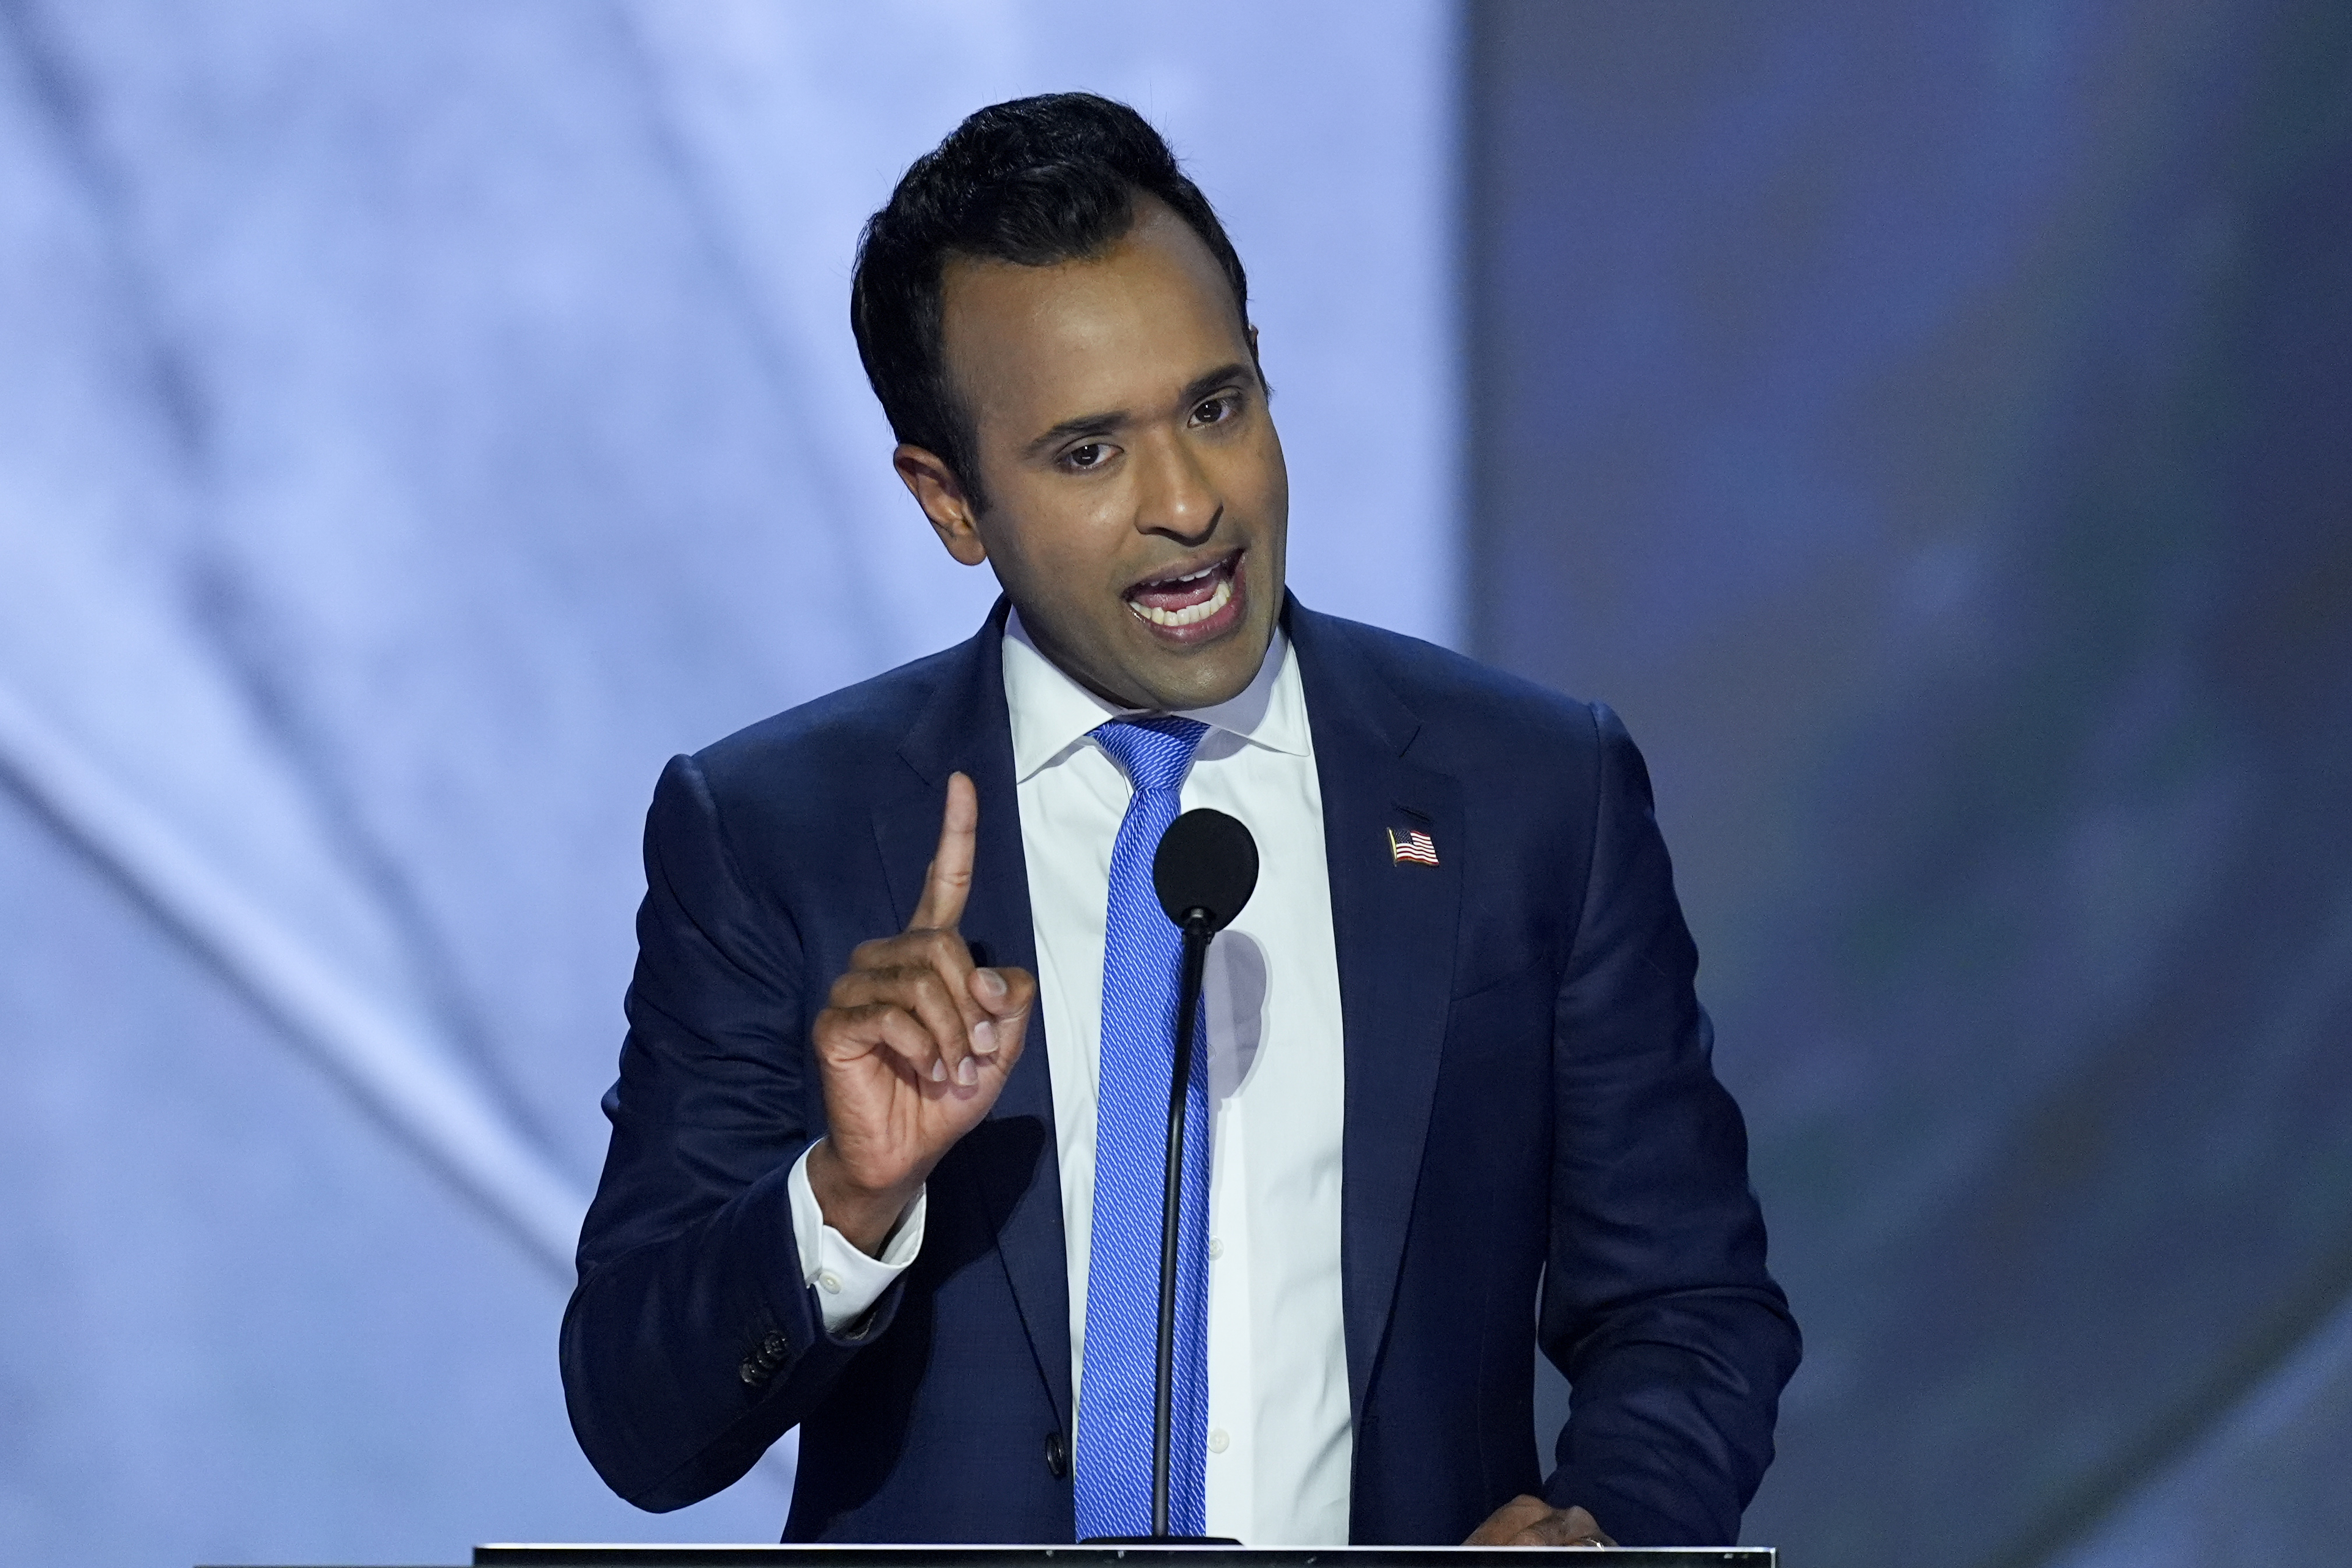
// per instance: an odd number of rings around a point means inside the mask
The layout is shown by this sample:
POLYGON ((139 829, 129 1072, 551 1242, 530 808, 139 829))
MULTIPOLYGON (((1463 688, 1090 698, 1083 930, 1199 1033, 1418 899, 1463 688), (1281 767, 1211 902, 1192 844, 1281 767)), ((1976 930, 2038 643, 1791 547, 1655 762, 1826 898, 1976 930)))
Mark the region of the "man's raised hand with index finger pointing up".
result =
POLYGON ((950 773, 913 924, 849 954, 811 1030, 828 1133, 809 1152, 809 1190, 826 1225, 868 1255, 997 1103, 1037 1001, 1025 969, 974 969, 957 933, 978 825, 971 780, 950 773))

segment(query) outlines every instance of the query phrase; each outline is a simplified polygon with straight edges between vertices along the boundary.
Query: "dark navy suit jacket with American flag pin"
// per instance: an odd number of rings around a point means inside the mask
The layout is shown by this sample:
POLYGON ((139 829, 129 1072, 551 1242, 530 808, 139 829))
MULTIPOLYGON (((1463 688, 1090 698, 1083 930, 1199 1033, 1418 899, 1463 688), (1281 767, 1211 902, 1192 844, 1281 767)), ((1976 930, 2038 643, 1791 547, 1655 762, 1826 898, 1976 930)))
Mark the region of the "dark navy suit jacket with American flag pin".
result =
MULTIPOLYGON (((1724 1544, 1797 1331, 1764 1272, 1649 778, 1606 708, 1287 607, 1322 780, 1345 1034, 1357 1542, 1461 1542, 1515 1493, 1625 1544, 1724 1544), (1439 865, 1397 863, 1418 827, 1439 865), (1541 1284, 1541 1305, 1538 1305, 1541 1284), (1545 1465, 1534 1345, 1573 1413, 1545 1465)), ((572 1427, 647 1509, 800 1427, 786 1540, 1068 1542, 1070 1302, 1044 1016, 931 1173, 858 1335, 802 1284, 786 1178, 823 1133, 809 1025, 901 931, 948 773, 978 785, 964 936, 1035 969, 1000 637, 677 757, 612 1152, 579 1248, 572 1427)))

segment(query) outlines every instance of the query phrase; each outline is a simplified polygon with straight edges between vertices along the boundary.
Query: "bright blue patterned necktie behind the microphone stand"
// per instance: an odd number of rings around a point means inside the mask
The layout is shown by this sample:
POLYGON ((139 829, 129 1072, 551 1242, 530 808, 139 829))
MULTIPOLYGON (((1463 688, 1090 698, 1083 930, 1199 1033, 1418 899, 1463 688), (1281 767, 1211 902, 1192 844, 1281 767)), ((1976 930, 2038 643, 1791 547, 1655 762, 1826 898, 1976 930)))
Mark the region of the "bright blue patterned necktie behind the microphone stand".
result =
MULTIPOLYGON (((1152 1403, 1160 1361, 1160 1197, 1167 1180, 1169 1074, 1183 933, 1160 910, 1152 856, 1176 820, 1195 719, 1110 719, 1094 729, 1134 785, 1110 849, 1103 926, 1103 1051, 1094 1110, 1094 1241, 1087 1251, 1087 1352, 1077 1406, 1077 1535, 1152 1528, 1152 1403)), ((1200 1535, 1209 1488, 1209 1091, 1207 1027, 1185 1088, 1183 1206, 1176 1241, 1176 1375, 1169 1530, 1200 1535)))

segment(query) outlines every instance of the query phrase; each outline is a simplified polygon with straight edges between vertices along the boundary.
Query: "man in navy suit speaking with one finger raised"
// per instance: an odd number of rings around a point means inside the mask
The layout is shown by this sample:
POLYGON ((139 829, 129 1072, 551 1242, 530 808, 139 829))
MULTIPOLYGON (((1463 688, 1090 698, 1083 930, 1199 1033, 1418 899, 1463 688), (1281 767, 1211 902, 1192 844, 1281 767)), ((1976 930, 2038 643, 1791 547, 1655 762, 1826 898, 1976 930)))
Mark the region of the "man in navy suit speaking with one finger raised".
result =
POLYGON ((1190 1084, 1178 1528, 1736 1540, 1797 1331, 1623 726, 1287 595, 1247 280, 1134 110, 967 120, 851 315, 1004 602, 661 778, 562 1333, 597 1472, 673 1509, 800 1427, 788 1540, 1145 1528, 1138 865, 1218 804, 1265 877, 1190 1084))

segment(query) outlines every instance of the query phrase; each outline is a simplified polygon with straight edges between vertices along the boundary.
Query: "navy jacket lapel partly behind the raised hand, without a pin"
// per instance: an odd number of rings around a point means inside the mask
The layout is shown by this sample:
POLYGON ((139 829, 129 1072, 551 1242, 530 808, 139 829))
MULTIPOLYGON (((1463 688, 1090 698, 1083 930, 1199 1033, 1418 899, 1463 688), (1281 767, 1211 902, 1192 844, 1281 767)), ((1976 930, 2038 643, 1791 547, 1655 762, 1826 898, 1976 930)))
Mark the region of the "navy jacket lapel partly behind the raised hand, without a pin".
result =
MULTIPOLYGON (((946 677, 898 745, 906 769, 877 792, 875 839, 882 849, 891 910, 903 926, 915 914, 931 851, 938 849, 948 773, 969 773, 981 797, 981 827, 971 860, 971 900, 964 905, 964 940, 981 964, 1035 973, 1037 929, 1030 924, 1028 860, 1021 853, 1021 809, 1014 797, 1014 741, 1004 710, 1004 616, 1007 604, 997 599, 981 635, 948 654, 946 677)), ((1042 1145, 1035 1135, 976 1133, 962 1147, 971 1154, 969 1171, 978 1182, 1037 1371, 1068 1422, 1070 1276, 1054 1159, 1044 1006, 1030 1013, 1021 1063, 988 1112, 990 1124, 1004 1124, 1002 1131, 1011 1131, 1009 1124, 1023 1117, 1042 1128, 1042 1145)))

